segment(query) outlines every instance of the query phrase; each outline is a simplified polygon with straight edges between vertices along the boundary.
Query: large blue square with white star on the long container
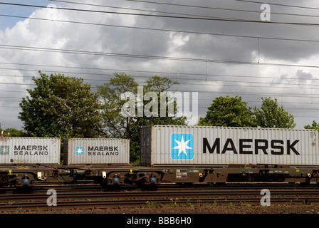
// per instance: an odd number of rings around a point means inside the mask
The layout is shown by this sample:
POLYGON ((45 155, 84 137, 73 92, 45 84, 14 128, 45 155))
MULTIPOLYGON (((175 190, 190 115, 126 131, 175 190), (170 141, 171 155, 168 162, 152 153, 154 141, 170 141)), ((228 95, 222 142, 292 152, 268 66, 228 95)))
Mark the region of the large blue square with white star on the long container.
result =
POLYGON ((174 160, 194 158, 194 135, 192 133, 172 133, 171 158, 174 160))

